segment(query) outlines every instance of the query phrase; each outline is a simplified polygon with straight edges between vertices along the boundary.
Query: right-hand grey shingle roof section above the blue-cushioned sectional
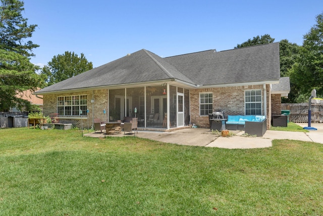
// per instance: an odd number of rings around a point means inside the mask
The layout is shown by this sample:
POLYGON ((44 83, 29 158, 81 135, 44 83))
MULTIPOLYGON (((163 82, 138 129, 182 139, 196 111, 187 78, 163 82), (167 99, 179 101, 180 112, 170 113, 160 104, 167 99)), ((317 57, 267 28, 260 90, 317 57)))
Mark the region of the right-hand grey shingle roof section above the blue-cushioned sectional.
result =
POLYGON ((279 43, 221 52, 200 52, 166 58, 197 85, 219 85, 280 78, 279 43))

